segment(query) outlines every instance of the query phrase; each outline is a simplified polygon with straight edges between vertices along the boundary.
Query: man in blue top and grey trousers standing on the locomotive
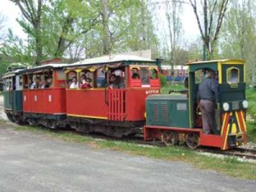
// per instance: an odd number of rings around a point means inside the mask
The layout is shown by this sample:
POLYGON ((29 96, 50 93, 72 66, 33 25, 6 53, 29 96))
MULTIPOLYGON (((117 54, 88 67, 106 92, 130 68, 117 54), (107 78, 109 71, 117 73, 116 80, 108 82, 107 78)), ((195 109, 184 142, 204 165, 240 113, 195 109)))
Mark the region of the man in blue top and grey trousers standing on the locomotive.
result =
POLYGON ((211 134, 216 126, 215 107, 219 102, 218 82, 214 71, 208 70, 199 84, 197 100, 202 112, 203 131, 205 134, 211 134))

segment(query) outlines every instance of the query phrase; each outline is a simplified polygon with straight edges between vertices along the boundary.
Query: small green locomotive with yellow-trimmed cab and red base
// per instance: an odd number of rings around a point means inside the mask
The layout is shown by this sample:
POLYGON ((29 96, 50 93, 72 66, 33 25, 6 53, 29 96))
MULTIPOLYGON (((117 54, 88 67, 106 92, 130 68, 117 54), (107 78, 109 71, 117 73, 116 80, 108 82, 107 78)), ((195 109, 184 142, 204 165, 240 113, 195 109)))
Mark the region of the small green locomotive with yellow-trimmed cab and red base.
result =
POLYGON ((159 139, 173 145, 186 142, 221 150, 246 142, 245 62, 216 60, 188 63, 188 90, 178 95, 152 95, 147 98, 147 125, 144 139, 159 139), (196 93, 205 70, 213 70, 218 81, 220 103, 216 108, 216 125, 212 134, 202 131, 202 114, 197 109, 196 93))

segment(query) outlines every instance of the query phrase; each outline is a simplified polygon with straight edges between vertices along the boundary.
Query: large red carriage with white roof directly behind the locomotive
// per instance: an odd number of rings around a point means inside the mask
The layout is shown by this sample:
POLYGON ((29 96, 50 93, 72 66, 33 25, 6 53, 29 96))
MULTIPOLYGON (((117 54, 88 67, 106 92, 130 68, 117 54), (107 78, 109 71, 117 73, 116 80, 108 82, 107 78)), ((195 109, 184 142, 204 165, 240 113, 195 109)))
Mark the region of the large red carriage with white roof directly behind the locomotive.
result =
POLYGON ((65 72, 71 127, 116 137, 142 131, 145 99, 159 93, 157 61, 122 54, 102 56, 68 65, 65 72), (81 78, 89 82, 87 88, 81 88, 81 78))

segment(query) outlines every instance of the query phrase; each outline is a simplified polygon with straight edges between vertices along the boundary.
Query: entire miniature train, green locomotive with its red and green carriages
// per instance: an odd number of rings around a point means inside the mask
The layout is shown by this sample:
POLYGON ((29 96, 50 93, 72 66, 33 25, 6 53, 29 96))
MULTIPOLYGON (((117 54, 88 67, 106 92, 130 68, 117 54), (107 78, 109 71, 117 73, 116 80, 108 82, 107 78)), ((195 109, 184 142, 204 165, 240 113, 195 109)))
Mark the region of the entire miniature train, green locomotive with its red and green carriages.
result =
POLYGON ((160 62, 139 56, 17 69, 3 76, 4 111, 17 123, 120 138, 143 132, 146 141, 227 150, 246 142, 244 64, 243 60, 188 63, 187 90, 170 95, 159 94, 160 62), (207 69, 216 72, 220 91, 212 134, 202 131, 202 116, 196 110, 198 83, 207 69))

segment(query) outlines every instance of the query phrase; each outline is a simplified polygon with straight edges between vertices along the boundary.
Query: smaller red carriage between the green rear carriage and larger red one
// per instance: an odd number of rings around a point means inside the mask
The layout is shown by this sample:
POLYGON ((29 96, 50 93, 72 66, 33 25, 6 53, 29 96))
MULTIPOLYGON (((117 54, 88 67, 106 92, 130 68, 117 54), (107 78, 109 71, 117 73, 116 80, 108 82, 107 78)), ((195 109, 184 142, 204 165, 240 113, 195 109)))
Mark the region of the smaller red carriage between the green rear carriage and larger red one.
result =
POLYGON ((47 64, 22 72, 24 121, 51 128, 65 125, 65 66, 47 64))

